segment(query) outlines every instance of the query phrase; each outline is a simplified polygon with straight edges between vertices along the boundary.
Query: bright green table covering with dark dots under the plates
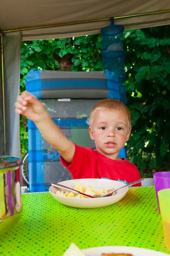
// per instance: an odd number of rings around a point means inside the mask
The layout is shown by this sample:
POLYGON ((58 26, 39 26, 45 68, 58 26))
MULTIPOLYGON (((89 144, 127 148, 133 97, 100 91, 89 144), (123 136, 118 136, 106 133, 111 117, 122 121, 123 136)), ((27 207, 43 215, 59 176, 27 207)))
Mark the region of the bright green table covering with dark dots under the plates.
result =
POLYGON ((76 209, 49 192, 23 194, 23 216, 0 240, 3 256, 62 256, 74 242, 81 249, 133 246, 170 254, 164 241, 154 187, 130 188, 116 204, 76 209))

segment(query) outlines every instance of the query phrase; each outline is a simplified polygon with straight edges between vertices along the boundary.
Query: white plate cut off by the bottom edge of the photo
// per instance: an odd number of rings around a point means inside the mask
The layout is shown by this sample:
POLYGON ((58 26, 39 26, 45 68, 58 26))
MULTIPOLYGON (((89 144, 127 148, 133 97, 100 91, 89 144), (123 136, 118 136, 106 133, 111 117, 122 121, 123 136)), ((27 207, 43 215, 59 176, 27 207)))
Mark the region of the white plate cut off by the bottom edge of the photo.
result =
POLYGON ((101 256, 102 253, 130 253, 133 254, 133 256, 170 256, 167 253, 161 253, 155 250, 129 246, 95 247, 82 250, 82 252, 88 256, 101 256))

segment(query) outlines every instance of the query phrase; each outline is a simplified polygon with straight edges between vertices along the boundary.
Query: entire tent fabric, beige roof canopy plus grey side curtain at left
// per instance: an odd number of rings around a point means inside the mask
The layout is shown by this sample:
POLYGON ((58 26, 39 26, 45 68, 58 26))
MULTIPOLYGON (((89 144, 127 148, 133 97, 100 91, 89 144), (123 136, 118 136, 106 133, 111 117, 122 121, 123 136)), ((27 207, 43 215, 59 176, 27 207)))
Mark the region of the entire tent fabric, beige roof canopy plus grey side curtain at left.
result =
MULTIPOLYGON (((136 15, 170 9, 169 0, 1 0, 0 32, 3 32, 6 154, 20 157, 19 115, 14 113, 14 102, 19 95, 20 41, 64 38, 99 33, 110 20, 80 23, 111 17, 136 15), (76 24, 76 23, 78 24, 76 24), (65 24, 61 26, 61 24, 65 24), (74 23, 68 25, 68 23, 74 23), (25 28, 51 26, 26 30, 25 28), (67 24, 67 25, 66 25, 67 24), (15 32, 8 30, 23 29, 15 32)), ((170 12, 115 19, 125 29, 137 29, 170 24, 170 12)), ((1 61, 0 61, 1 63, 1 61)), ((1 70, 1 68, 0 68, 1 70)), ((0 74, 0 124, 3 120, 2 84, 0 74)), ((0 125, 0 148, 3 147, 3 128, 0 125)))

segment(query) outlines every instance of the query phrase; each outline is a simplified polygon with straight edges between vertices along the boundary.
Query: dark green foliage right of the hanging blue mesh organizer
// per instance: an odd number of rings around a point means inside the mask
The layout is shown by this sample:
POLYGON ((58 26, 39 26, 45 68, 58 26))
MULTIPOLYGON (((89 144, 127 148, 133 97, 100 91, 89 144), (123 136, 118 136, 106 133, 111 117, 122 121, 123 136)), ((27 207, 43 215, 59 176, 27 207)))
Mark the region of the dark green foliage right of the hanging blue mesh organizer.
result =
POLYGON ((126 32, 127 156, 142 175, 170 170, 170 26, 126 32))

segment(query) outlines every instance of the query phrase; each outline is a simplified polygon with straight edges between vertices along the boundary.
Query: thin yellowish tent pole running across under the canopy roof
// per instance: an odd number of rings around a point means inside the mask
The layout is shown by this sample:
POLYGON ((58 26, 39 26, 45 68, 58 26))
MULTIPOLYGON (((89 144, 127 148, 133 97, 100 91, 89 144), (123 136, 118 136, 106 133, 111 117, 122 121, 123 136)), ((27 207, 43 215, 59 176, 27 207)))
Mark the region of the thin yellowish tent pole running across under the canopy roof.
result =
MULTIPOLYGON (((114 17, 114 19, 123 19, 123 18, 138 17, 138 16, 145 16, 145 15, 155 15, 155 14, 167 13, 167 12, 170 12, 170 10, 124 15, 124 16, 114 17)), ((17 32, 17 31, 31 30, 31 29, 51 28, 51 27, 57 27, 57 26, 68 26, 68 25, 75 25, 75 24, 82 24, 82 23, 105 21, 105 20, 111 20, 111 18, 104 18, 104 19, 97 19, 97 20, 83 20, 83 21, 75 21, 75 22, 68 22, 68 23, 61 23, 61 24, 51 24, 51 25, 45 25, 45 26, 28 27, 28 28, 22 28, 22 29, 9 29, 9 30, 4 30, 3 33, 17 32)))

